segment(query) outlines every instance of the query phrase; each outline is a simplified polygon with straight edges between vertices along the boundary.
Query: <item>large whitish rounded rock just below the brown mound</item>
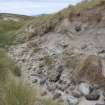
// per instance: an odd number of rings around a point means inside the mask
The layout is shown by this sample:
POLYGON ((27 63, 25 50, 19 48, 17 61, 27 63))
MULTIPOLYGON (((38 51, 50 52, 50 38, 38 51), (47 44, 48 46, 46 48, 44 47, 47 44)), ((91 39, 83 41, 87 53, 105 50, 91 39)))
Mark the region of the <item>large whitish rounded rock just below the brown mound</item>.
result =
POLYGON ((79 85, 79 91, 84 96, 89 95, 89 93, 91 92, 91 86, 87 83, 81 83, 79 85))

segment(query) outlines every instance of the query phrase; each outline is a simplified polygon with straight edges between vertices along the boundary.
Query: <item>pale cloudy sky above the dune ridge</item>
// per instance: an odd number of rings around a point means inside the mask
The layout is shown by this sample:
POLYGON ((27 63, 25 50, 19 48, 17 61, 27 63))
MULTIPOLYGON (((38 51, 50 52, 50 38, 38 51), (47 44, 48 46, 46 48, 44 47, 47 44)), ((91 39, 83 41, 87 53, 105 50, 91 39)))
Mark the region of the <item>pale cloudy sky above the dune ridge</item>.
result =
POLYGON ((81 0, 0 0, 0 13, 39 15, 54 13, 81 0))

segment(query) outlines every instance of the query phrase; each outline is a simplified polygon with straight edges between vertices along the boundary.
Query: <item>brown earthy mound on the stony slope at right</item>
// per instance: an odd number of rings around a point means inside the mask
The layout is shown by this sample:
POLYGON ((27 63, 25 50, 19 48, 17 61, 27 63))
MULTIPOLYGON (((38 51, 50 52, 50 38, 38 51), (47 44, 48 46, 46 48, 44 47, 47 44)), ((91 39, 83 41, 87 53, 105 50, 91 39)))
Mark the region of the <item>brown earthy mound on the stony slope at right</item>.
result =
POLYGON ((105 86, 105 78, 102 74, 101 58, 96 55, 89 55, 81 59, 74 70, 73 77, 75 81, 89 81, 105 86))

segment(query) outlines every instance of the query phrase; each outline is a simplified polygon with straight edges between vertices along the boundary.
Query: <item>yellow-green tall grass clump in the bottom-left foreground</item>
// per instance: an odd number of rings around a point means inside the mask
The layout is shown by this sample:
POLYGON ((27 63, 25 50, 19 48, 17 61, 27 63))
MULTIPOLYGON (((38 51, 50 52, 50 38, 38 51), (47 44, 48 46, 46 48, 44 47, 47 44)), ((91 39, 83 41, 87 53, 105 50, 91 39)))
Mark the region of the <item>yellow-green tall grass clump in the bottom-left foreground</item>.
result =
POLYGON ((10 80, 5 85, 2 102, 4 105, 34 105, 35 91, 22 82, 10 80))

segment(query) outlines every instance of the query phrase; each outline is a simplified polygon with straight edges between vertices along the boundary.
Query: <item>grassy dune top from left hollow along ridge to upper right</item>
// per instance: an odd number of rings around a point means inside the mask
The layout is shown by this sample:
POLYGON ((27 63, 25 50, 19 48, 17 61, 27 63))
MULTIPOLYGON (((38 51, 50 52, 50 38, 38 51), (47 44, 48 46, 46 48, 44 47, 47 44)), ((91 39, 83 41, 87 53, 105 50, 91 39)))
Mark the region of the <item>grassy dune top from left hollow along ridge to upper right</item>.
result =
POLYGON ((52 31, 64 18, 71 18, 73 14, 79 13, 82 10, 95 8, 104 4, 104 0, 91 0, 89 2, 79 3, 76 6, 69 6, 55 14, 35 17, 0 14, 0 47, 7 47, 12 42, 15 42, 15 40, 21 43, 30 40, 36 35, 43 35, 52 31), (3 20, 3 18, 9 19, 3 20), (18 21, 12 19, 17 19, 18 21), (32 31, 26 31, 30 27, 32 31))

